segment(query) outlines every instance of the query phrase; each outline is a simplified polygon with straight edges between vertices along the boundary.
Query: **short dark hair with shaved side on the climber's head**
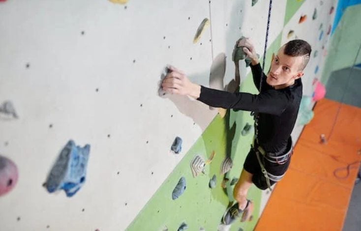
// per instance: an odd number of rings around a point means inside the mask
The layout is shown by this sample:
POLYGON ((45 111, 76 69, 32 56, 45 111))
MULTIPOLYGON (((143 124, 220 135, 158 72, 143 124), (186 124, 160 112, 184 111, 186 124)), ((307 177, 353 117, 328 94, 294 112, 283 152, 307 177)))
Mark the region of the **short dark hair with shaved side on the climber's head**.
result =
POLYGON ((303 62, 300 66, 300 70, 303 70, 310 59, 311 51, 311 45, 309 45, 308 42, 301 39, 295 39, 284 45, 283 54, 292 57, 302 56, 303 62))

